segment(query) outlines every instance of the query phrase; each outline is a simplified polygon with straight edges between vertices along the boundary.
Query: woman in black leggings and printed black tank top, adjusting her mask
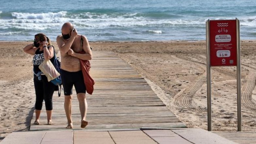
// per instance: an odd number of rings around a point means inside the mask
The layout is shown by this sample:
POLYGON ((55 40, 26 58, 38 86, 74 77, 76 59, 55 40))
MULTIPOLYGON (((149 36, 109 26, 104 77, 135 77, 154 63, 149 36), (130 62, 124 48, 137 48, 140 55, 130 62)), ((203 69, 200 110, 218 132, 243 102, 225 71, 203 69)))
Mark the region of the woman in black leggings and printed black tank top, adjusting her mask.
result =
POLYGON ((36 90, 36 120, 35 125, 39 125, 40 113, 42 110, 43 101, 45 102, 47 124, 53 125, 52 110, 53 110, 53 93, 56 86, 52 82, 48 82, 47 77, 39 69, 39 65, 44 60, 54 61, 54 48, 51 41, 43 33, 35 35, 34 43, 24 47, 24 52, 34 55, 33 58, 33 71, 34 71, 34 85, 36 90))

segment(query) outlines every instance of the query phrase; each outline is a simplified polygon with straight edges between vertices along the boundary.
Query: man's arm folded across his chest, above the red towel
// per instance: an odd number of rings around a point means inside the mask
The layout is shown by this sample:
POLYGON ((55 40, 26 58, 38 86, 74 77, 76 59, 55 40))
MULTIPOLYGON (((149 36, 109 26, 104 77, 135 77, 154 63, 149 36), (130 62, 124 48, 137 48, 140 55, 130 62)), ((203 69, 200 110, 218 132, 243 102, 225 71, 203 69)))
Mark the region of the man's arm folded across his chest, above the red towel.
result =
POLYGON ((75 53, 72 49, 69 49, 68 54, 74 57, 77 57, 82 60, 91 60, 92 59, 92 53, 91 48, 89 45, 89 42, 85 36, 82 36, 84 42, 83 42, 83 50, 85 51, 85 54, 75 53))

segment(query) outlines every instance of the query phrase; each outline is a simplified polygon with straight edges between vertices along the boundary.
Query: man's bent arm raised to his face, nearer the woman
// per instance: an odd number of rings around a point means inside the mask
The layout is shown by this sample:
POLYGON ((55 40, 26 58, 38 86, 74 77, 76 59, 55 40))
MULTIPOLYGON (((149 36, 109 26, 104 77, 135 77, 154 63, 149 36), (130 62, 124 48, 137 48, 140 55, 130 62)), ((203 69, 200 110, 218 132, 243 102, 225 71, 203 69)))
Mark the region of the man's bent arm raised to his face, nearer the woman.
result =
POLYGON ((60 35, 57 36, 56 42, 57 42, 57 44, 58 44, 59 51, 60 51, 61 54, 66 54, 66 53, 69 51, 69 49, 71 48, 72 43, 74 42, 74 39, 75 39, 75 37, 70 37, 70 39, 68 40, 68 42, 65 43, 65 42, 62 40, 62 38, 61 38, 60 35))

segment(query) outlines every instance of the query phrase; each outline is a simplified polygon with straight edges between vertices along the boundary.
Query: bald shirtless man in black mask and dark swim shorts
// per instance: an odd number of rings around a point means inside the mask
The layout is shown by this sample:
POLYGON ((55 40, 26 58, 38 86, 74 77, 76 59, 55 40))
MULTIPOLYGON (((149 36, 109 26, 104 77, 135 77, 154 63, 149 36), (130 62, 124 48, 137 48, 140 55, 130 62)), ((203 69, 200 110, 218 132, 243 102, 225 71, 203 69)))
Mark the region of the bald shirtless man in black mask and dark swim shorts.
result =
POLYGON ((83 73, 79 59, 91 60, 92 52, 87 38, 79 35, 70 22, 63 24, 61 28, 62 35, 57 36, 57 44, 61 55, 61 80, 63 83, 65 102, 64 108, 68 120, 66 128, 73 128, 72 124, 72 88, 75 87, 79 108, 81 113, 81 127, 85 128, 88 125, 86 121, 87 101, 86 87, 84 84, 83 73), (81 45, 81 40, 83 44, 81 45), (79 52, 86 52, 80 54, 79 52))

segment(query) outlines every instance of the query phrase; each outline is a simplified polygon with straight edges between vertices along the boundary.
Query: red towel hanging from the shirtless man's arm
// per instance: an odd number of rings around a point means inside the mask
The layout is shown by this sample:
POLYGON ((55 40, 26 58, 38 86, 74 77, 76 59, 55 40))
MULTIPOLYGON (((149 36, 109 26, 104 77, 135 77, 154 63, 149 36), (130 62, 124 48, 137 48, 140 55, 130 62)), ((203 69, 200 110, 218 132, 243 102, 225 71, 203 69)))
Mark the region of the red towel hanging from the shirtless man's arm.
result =
POLYGON ((82 69, 83 76, 84 76, 86 91, 87 91, 88 94, 92 94, 93 85, 95 84, 95 82, 89 74, 91 64, 88 60, 81 60, 81 59, 79 59, 79 60, 80 60, 80 63, 81 63, 81 69, 82 69))

